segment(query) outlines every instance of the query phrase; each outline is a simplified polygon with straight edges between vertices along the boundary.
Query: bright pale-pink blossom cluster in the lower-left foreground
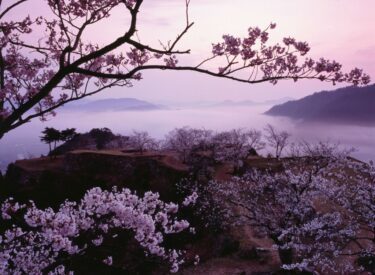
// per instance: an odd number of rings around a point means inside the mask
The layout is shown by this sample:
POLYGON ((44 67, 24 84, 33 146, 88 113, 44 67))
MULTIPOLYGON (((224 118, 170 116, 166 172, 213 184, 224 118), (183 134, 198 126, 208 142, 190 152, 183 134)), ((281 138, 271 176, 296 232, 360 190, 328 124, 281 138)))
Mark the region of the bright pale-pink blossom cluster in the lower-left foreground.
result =
MULTIPOLYGON (((192 194, 184 205, 195 200, 196 194, 192 194)), ((80 203, 66 201, 58 211, 8 199, 1 206, 1 215, 14 225, 0 236, 0 273, 64 274, 68 271, 64 259, 82 255, 107 238, 115 238, 111 233, 115 229, 133 232, 146 255, 169 262, 171 271, 176 272, 183 262, 182 252, 164 248, 163 236, 189 228, 186 220, 176 218, 178 210, 177 204, 161 201, 158 193, 146 192, 139 197, 129 189, 116 188, 93 188, 80 203), (85 244, 78 244, 76 239, 80 236, 90 237, 85 244)), ((108 255, 103 262, 112 265, 116 259, 108 255)))

